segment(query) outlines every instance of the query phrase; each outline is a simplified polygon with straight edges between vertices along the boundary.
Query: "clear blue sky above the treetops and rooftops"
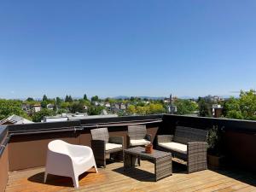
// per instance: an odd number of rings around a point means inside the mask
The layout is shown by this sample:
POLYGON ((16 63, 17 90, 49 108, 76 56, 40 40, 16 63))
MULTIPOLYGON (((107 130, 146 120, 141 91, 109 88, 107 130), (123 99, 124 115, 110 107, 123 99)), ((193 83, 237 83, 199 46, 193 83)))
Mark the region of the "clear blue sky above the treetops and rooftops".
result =
POLYGON ((256 1, 1 1, 0 97, 255 89, 256 1))

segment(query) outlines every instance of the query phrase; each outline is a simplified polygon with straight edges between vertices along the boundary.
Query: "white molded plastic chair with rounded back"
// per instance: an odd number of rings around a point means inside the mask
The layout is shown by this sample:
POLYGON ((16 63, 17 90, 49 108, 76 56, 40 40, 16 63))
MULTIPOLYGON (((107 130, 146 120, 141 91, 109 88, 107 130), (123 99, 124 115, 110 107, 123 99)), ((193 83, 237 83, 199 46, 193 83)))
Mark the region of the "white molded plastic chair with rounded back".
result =
POLYGON ((44 183, 47 174, 72 177, 75 188, 79 188, 79 175, 95 167, 96 162, 90 147, 73 145, 61 140, 48 144, 44 183))

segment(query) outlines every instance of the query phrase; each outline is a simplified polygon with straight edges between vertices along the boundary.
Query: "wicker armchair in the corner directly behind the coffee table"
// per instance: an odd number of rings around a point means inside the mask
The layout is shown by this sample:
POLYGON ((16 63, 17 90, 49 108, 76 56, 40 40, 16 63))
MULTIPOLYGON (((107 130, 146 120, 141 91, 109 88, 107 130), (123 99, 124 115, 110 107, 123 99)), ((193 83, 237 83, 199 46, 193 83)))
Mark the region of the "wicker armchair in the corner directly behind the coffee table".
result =
POLYGON ((147 134, 146 125, 128 126, 128 147, 143 146, 151 143, 152 136, 147 134))

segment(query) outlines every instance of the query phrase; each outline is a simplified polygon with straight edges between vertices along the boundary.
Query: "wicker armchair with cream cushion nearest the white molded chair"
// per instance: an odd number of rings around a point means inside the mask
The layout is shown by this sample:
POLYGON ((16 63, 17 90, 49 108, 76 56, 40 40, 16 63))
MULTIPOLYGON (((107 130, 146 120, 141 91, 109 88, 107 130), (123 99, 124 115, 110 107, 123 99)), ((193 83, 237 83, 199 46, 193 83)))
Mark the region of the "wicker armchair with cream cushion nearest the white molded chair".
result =
POLYGON ((108 128, 90 130, 90 133, 91 148, 98 166, 106 167, 107 155, 119 152, 123 157, 124 137, 109 137, 108 128))

